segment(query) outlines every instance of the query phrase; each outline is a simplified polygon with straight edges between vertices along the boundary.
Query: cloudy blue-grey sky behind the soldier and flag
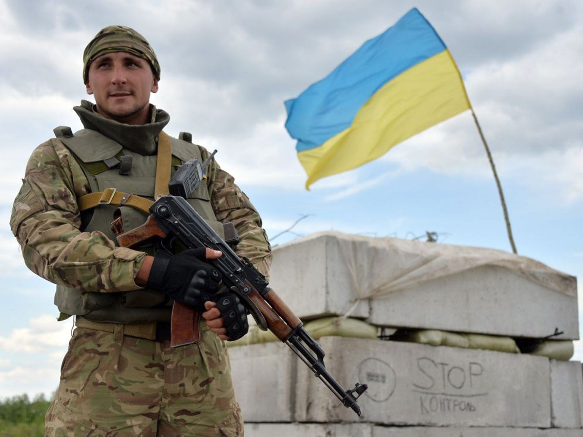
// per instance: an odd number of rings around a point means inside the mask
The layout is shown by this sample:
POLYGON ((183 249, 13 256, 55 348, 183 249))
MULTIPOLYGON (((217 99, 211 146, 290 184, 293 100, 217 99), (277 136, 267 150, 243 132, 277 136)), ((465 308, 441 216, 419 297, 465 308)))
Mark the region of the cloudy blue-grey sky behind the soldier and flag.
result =
MULTIPOLYGON (((50 393, 71 323, 28 272, 8 227, 31 151, 80 122, 82 52, 109 24, 149 39, 162 67, 152 102, 166 131, 192 132, 250 196, 282 244, 338 230, 510 250, 496 185, 468 112, 381 159, 305 191, 283 101, 416 6, 465 79, 503 182, 521 255, 583 276, 583 3, 580 0, 0 0, 0 398, 50 393)), ((581 287, 580 287, 581 289, 581 287)), ((575 358, 583 358, 577 343, 575 358)))

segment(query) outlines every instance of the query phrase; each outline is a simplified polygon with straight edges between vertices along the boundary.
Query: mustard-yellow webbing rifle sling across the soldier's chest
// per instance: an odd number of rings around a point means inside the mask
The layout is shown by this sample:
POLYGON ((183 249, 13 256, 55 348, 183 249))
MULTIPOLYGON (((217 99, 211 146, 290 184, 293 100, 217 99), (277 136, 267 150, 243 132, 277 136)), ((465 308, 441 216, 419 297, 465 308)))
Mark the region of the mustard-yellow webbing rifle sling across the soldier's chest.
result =
MULTIPOLYGON (((172 139, 165 132, 158 136, 158 154, 156 157, 156 185, 154 186, 154 199, 159 195, 168 194, 168 182, 172 168, 172 139)), ((97 205, 131 206, 143 213, 149 214, 152 200, 148 200, 135 194, 117 191, 115 188, 106 188, 103 191, 86 194, 77 199, 80 211, 94 208, 97 205)))

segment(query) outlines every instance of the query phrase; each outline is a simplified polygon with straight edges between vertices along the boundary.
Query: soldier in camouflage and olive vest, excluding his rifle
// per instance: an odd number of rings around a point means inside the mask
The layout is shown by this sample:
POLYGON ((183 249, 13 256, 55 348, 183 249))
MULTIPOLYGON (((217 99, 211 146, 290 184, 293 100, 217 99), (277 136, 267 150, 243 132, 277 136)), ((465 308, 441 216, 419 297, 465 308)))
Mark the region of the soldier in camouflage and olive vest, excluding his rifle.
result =
MULTIPOLYGON (((96 101, 73 108, 85 129, 57 128, 33 151, 10 218, 26 265, 57 284, 59 320, 76 317, 45 435, 243 435, 223 340, 246 326, 228 330, 216 304, 199 298, 219 287, 204 259, 220 252, 168 258, 117 246, 110 228, 114 216, 125 230, 142 224, 141 198, 154 199, 178 166, 209 153, 187 133, 162 132, 170 117, 149 103, 160 66, 135 30, 104 28, 83 64, 96 101), (200 343, 170 348, 173 299, 202 312, 200 343)), ((266 275, 271 248, 257 210, 214 160, 204 182, 188 202, 219 235, 232 222, 236 252, 266 275)), ((233 309, 246 320, 238 302, 233 309)))

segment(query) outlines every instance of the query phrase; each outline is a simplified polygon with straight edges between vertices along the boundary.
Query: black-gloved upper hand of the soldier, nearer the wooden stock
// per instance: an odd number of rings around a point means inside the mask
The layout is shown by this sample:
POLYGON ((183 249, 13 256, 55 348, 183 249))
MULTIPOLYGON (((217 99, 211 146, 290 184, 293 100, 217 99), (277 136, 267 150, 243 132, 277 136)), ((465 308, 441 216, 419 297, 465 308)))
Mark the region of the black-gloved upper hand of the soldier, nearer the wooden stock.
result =
POLYGON ((147 286, 196 311, 205 311, 205 301, 212 300, 223 277, 203 259, 206 259, 205 248, 188 249, 177 255, 158 252, 147 286))

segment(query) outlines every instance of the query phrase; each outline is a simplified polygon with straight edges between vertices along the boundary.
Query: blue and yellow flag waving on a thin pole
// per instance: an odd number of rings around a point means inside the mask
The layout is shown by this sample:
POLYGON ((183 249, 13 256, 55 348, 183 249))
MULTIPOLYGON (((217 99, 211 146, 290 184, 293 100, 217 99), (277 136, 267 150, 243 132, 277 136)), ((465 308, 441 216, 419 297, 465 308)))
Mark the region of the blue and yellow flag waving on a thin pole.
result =
POLYGON ((454 59, 415 8, 285 105, 305 188, 470 108, 454 59))

